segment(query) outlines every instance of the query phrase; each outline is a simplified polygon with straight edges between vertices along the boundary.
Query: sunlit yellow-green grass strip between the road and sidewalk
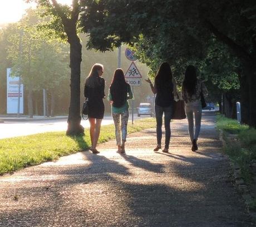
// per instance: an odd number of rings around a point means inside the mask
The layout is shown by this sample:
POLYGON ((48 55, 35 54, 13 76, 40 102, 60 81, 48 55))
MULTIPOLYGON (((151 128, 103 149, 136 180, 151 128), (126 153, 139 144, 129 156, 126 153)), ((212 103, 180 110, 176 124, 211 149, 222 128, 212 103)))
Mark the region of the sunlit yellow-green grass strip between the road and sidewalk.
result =
MULTIPOLYGON (((128 124, 128 133, 155 127, 154 118, 135 120, 128 124)), ((101 127, 99 143, 115 138, 114 125, 101 127)), ((11 173, 29 165, 57 159, 58 157, 81 152, 90 147, 90 135, 70 137, 66 132, 49 132, 24 137, 0 139, 0 174, 11 173)))

